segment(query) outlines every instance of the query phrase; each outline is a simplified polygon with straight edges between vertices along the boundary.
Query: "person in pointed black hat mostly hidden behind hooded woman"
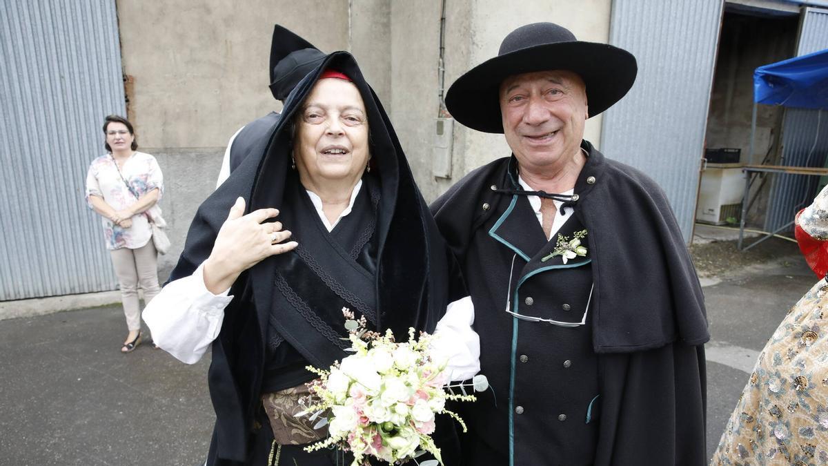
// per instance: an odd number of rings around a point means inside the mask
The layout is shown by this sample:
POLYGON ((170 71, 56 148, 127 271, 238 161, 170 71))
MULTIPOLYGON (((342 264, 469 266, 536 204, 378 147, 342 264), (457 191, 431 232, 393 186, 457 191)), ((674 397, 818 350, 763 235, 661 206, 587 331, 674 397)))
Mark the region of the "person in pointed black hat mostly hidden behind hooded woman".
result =
MULTIPOLYGON (((325 60, 325 54, 311 45, 301 36, 297 36, 278 24, 273 27, 270 46, 270 92, 273 98, 283 104, 291 90, 299 84, 310 71, 325 60)), ((227 144, 221 171, 216 180, 216 187, 221 186, 253 147, 272 133, 279 121, 280 114, 272 111, 262 118, 254 119, 238 129, 227 144)))

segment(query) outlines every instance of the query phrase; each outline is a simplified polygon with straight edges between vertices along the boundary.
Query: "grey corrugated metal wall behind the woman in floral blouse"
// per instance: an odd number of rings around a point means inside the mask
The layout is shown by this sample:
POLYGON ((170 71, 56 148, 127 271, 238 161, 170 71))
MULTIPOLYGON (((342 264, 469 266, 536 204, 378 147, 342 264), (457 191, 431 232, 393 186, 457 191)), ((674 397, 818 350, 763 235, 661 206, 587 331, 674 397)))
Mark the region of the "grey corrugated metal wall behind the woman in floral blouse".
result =
POLYGON ((116 288, 84 182, 124 114, 113 1, 0 2, 0 301, 116 288))

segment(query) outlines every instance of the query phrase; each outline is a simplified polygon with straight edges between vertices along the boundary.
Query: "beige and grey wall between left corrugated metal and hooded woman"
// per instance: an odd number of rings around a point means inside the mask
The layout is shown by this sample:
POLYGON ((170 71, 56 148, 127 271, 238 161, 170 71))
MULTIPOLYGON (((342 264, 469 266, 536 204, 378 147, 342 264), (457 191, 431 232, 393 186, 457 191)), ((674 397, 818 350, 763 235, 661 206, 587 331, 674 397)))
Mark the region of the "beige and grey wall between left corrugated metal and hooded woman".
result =
MULTIPOLYGON (((382 17, 377 5, 383 2, 371 3, 361 16, 373 22, 375 12, 382 17)), ((118 0, 117 6, 123 71, 131 80, 129 118, 141 149, 158 158, 166 178, 161 207, 173 243, 159 260, 166 279, 195 209, 213 191, 230 136, 282 106, 267 88, 273 24, 322 51, 348 50, 349 1, 307 0, 300 7, 290 0, 248 0, 242 7, 222 0, 118 0)), ((377 66, 366 75, 387 81, 377 66)))

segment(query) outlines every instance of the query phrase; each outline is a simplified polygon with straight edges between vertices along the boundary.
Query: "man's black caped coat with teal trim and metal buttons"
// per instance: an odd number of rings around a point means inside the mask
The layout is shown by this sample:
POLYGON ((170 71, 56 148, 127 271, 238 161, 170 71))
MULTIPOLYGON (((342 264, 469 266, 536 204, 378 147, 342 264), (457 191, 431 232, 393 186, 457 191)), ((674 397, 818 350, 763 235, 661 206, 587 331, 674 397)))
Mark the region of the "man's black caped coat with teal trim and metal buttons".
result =
POLYGON ((495 191, 517 187, 514 158, 469 173, 431 206, 472 296, 493 389, 463 406, 464 458, 705 464, 709 334, 681 231, 655 182, 582 148, 575 215, 558 233, 586 230, 585 257, 543 260, 557 235, 546 241, 526 197, 495 191))

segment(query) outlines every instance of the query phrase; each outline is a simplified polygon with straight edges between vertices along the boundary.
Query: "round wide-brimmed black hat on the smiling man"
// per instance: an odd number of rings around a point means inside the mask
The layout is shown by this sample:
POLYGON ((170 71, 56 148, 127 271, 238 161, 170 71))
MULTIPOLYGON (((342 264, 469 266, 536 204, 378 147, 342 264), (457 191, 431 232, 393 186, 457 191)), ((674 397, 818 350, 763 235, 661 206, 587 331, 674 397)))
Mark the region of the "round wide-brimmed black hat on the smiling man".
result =
POLYGON ((628 51, 578 41, 566 27, 536 22, 509 33, 498 56, 460 76, 446 92, 445 106, 451 116, 471 129, 503 133, 500 84, 511 75, 544 70, 570 70, 580 75, 593 117, 627 94, 638 65, 628 51))

